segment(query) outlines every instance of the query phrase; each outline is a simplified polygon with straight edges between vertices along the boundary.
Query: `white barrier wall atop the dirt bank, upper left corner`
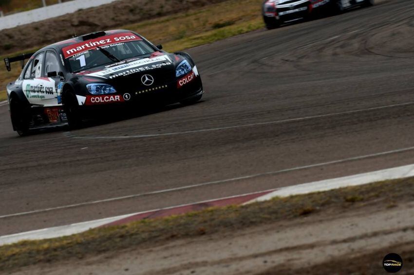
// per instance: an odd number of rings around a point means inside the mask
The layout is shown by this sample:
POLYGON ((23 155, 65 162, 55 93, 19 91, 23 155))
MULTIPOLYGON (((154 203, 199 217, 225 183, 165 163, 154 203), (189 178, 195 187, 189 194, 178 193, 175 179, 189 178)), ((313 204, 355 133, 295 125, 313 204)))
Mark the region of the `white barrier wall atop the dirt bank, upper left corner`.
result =
POLYGON ((43 8, 0 17, 0 30, 73 13, 79 9, 96 7, 115 0, 73 0, 43 8))

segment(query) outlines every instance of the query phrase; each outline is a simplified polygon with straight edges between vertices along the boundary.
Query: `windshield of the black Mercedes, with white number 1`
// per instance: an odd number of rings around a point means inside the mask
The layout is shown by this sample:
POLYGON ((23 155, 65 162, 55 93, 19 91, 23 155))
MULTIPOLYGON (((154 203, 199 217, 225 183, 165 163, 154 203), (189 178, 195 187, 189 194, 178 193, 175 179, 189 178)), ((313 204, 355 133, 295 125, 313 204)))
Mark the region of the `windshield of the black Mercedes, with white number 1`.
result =
POLYGON ((155 52, 144 41, 129 41, 105 47, 98 47, 68 58, 72 72, 93 69, 119 61, 147 55, 155 52))

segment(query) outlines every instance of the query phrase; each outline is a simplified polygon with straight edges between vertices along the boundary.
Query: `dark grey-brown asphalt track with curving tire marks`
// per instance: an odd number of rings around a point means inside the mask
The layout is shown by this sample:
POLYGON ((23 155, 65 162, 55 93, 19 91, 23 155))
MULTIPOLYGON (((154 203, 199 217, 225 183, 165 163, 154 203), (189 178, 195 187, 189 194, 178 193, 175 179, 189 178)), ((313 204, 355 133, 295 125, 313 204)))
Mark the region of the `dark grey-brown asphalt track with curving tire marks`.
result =
MULTIPOLYGON (((0 235, 414 163, 414 2, 191 49, 203 102, 18 137, 0 235)), ((115 114, 114 114, 115 115, 115 114)))

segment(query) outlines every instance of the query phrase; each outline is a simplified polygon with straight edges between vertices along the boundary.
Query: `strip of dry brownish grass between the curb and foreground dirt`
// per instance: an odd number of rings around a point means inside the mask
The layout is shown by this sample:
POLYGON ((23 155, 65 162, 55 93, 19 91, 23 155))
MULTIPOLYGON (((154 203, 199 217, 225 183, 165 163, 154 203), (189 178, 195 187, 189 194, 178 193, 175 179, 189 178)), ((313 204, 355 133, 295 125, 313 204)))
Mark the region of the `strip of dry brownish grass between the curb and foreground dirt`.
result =
POLYGON ((379 204, 386 209, 390 200, 413 200, 414 178, 275 198, 245 206, 209 208, 185 215, 96 228, 50 240, 21 241, 0 246, 0 271, 11 271, 22 266, 68 258, 84 258, 103 252, 138 247, 145 243, 152 244, 223 231, 234 232, 249 226, 297 219, 323 211, 337 209, 339 212, 345 212, 358 207, 358 203, 347 203, 344 200, 347 197, 363 197, 364 206, 379 204))

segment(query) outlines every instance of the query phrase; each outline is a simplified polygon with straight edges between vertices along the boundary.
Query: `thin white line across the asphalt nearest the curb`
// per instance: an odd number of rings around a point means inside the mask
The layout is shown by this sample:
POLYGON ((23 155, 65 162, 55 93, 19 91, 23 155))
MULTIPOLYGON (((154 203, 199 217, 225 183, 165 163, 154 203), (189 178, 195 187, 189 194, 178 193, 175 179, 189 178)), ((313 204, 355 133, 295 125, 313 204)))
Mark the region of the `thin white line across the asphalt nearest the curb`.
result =
POLYGON ((162 190, 156 190, 156 191, 151 191, 147 193, 139 193, 139 194, 133 194, 133 195, 128 195, 128 196, 114 197, 114 198, 96 200, 96 201, 91 201, 91 202, 86 202, 86 203, 79 203, 79 204, 66 205, 66 206, 57 206, 57 207, 38 209, 38 210, 27 211, 27 212, 7 214, 7 215, 0 216, 0 219, 29 215, 29 214, 36 214, 36 213, 41 213, 41 212, 48 212, 48 211, 53 211, 53 210, 68 209, 68 208, 79 207, 79 206, 89 206, 89 205, 94 205, 94 204, 107 203, 107 202, 113 202, 113 201, 119 201, 119 200, 125 200, 125 199, 132 199, 132 198, 143 197, 143 196, 148 196, 148 195, 168 193, 168 192, 192 189, 192 188, 215 185, 215 184, 223 184, 227 182, 234 182, 234 181, 251 179, 251 178, 256 178, 256 177, 276 175, 276 174, 285 173, 285 172, 293 172, 293 171, 298 171, 298 170, 303 170, 303 169, 315 168, 315 167, 332 165, 332 164, 339 164, 339 163, 344 163, 348 161, 361 160, 361 159, 378 157, 378 156, 383 156, 383 155, 403 153, 403 152, 408 152, 408 151, 413 151, 413 150, 414 150, 414 147, 407 147, 407 148, 402 148, 402 149, 396 149, 396 150, 391 150, 391 151, 386 151, 386 152, 370 154, 370 155, 360 155, 360 156, 355 156, 355 157, 343 158, 343 159, 338 159, 338 160, 333 160, 333 161, 328 161, 328 162, 293 167, 293 168, 282 169, 282 170, 277 170, 277 171, 270 171, 270 172, 264 172, 264 173, 259 173, 259 174, 251 174, 251 175, 245 175, 241 177, 228 178, 228 179, 217 180, 217 181, 203 182, 199 184, 181 186, 177 188, 162 189, 162 190))

